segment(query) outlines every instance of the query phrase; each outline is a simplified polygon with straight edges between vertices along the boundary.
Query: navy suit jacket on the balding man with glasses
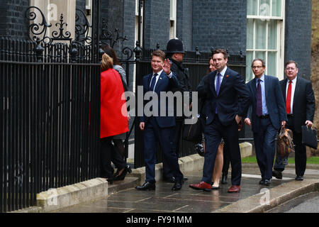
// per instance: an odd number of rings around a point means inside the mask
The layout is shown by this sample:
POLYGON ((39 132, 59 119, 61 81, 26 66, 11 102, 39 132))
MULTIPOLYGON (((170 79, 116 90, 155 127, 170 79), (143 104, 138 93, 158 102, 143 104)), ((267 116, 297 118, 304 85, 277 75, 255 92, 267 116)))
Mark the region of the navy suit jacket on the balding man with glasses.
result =
MULTIPOLYGON (((247 117, 252 120, 252 131, 256 132, 259 129, 259 118, 256 114, 256 78, 248 82, 247 85, 250 89, 250 99, 252 101, 250 106, 251 114, 249 111, 247 117)), ((278 130, 281 127, 281 121, 287 121, 286 107, 281 95, 278 78, 264 75, 264 94, 270 121, 272 121, 272 126, 278 130)))

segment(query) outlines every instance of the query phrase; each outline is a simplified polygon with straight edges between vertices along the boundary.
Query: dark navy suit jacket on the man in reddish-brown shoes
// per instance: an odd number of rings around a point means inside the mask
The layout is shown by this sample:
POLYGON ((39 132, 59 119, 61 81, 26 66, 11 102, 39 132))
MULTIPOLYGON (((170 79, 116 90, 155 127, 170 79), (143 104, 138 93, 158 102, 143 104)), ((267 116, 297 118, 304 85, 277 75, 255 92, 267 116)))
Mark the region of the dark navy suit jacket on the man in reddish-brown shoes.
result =
POLYGON ((240 74, 227 68, 217 95, 214 84, 216 74, 217 70, 203 77, 197 87, 198 96, 206 99, 203 106, 206 125, 213 121, 217 107, 220 123, 229 126, 235 120, 236 114, 246 116, 250 92, 240 74))

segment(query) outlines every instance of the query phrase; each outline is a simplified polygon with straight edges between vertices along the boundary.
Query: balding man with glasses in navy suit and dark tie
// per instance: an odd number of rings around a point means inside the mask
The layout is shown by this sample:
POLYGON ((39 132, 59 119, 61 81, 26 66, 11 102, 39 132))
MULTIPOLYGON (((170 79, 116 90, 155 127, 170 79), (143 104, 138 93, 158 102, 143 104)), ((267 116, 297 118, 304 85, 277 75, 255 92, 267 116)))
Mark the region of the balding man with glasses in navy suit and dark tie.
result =
POLYGON ((252 61, 254 79, 247 85, 252 104, 245 123, 252 126, 257 163, 262 174, 259 184, 269 186, 272 179, 272 165, 276 150, 276 135, 287 121, 284 99, 279 87, 279 79, 264 74, 264 60, 252 61))

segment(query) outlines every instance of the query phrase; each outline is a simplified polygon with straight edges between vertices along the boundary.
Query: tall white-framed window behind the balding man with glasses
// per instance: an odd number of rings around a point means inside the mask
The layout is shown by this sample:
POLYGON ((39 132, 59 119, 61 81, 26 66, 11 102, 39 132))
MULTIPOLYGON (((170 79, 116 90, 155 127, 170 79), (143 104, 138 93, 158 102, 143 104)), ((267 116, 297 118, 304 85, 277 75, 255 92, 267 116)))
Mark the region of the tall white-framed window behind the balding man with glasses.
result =
POLYGON ((254 78, 251 62, 262 58, 265 74, 284 79, 284 1, 247 0, 246 81, 254 78))

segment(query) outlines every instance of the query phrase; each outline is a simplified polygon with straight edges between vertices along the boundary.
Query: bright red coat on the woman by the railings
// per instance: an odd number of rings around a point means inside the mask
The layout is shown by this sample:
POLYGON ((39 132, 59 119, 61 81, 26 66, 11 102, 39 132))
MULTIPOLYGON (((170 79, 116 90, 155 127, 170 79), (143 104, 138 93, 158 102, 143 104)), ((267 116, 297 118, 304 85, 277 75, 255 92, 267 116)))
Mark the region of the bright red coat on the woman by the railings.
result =
POLYGON ((101 72, 101 131, 100 138, 128 131, 128 116, 121 76, 116 70, 101 72), (122 108, 123 107, 123 108, 122 108), (122 114, 123 109, 123 114, 122 114))

